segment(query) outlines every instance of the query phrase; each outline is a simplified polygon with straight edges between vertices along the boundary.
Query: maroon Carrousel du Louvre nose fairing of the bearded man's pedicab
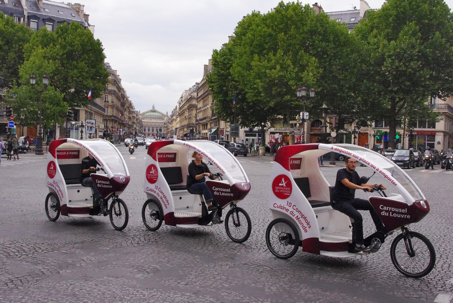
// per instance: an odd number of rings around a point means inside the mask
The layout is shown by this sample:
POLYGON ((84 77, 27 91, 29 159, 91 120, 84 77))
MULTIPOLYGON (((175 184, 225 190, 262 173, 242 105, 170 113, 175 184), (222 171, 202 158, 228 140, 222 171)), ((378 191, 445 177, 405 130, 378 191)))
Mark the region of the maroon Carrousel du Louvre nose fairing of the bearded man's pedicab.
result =
POLYGON ((370 197, 370 203, 389 231, 403 225, 419 222, 429 213, 429 205, 426 200, 407 205, 405 202, 388 198, 370 197), (422 202, 426 207, 422 205, 422 202))

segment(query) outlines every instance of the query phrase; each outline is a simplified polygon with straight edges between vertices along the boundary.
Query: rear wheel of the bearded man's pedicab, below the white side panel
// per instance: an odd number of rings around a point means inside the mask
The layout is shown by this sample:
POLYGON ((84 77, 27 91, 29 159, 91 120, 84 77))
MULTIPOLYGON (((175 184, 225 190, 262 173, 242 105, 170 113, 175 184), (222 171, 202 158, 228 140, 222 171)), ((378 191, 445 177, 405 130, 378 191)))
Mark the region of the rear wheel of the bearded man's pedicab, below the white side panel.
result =
POLYGON ((289 259, 294 256, 299 249, 299 241, 299 232, 287 219, 277 218, 267 226, 267 248, 277 258, 289 259))

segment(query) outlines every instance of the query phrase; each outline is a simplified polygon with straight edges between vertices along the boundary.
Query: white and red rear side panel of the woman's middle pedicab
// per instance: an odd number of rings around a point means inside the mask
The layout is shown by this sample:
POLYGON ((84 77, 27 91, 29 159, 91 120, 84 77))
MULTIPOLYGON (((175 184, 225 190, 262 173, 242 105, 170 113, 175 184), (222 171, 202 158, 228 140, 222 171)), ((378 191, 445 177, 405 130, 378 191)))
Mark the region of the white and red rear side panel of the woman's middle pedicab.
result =
POLYGON ((164 146, 173 144, 173 141, 156 141, 149 145, 145 164, 146 171, 143 191, 145 191, 148 199, 154 199, 160 202, 164 211, 165 225, 176 226, 173 196, 157 162, 157 151, 164 146))

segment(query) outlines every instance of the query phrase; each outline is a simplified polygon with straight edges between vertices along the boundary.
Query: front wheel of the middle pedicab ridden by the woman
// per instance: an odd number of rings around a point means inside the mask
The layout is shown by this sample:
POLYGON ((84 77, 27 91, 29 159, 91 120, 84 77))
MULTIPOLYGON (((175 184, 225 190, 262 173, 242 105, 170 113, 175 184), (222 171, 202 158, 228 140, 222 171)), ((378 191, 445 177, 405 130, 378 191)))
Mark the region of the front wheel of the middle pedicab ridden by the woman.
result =
POLYGON ((225 230, 226 235, 228 235, 233 242, 243 243, 247 241, 252 232, 252 222, 249 214, 241 207, 234 205, 226 213, 225 230))

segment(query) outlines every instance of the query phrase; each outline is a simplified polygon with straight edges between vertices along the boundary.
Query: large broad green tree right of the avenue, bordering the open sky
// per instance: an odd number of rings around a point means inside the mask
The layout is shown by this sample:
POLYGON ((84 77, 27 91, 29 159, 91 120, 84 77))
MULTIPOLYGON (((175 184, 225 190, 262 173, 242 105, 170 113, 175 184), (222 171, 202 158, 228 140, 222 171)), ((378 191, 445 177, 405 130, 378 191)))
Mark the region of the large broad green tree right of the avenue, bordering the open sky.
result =
POLYGON ((354 79, 355 37, 344 24, 316 15, 310 5, 280 2, 261 15, 252 12, 238 23, 231 41, 212 54, 212 89, 217 115, 242 126, 256 126, 277 115, 288 120, 302 110, 296 97, 302 85, 317 91, 306 109, 319 116, 326 103, 331 112, 354 120, 365 117, 353 111, 357 104, 354 79))

